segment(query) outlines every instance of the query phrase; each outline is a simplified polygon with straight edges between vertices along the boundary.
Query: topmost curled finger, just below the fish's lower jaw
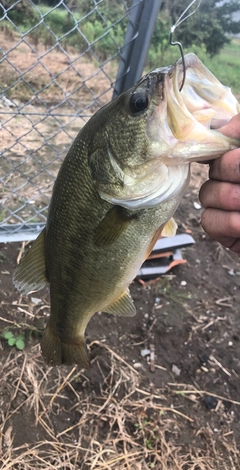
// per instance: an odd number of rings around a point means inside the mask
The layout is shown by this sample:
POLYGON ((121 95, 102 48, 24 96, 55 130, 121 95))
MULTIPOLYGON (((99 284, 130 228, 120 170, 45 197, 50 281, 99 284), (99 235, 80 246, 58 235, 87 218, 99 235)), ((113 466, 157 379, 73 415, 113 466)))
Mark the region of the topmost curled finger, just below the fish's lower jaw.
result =
POLYGON ((210 164, 209 177, 219 181, 240 183, 240 148, 230 150, 210 164))

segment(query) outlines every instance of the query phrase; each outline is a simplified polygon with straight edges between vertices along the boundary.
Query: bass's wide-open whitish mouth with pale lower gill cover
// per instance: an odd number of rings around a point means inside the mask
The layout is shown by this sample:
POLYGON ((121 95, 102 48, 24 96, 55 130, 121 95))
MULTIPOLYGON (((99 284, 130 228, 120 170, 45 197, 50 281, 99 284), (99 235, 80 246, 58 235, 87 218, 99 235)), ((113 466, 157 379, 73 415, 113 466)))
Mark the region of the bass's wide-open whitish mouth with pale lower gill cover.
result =
POLYGON ((189 163, 213 160, 239 146, 238 139, 218 132, 240 112, 231 89, 194 54, 185 56, 185 66, 181 91, 182 59, 151 71, 134 88, 135 96, 140 90, 139 96, 145 97, 146 90, 147 102, 152 103, 149 112, 137 116, 146 126, 147 152, 144 157, 140 152, 137 163, 133 159, 121 165, 113 147, 108 148, 111 171, 119 175, 121 184, 99 184, 102 199, 132 210, 156 207, 180 197, 188 182, 189 163))

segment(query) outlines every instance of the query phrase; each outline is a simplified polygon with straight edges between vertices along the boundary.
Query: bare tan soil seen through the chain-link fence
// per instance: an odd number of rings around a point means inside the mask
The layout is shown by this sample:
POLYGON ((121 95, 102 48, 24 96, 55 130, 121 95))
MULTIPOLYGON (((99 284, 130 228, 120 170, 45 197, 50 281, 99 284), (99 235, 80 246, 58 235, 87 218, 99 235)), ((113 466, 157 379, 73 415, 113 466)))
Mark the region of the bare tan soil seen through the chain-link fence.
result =
POLYGON ((45 222, 54 179, 72 140, 111 100, 117 63, 46 50, 0 31, 0 221, 45 222), (1 188, 2 189, 2 188, 1 188), (5 220, 4 220, 5 219, 5 220))

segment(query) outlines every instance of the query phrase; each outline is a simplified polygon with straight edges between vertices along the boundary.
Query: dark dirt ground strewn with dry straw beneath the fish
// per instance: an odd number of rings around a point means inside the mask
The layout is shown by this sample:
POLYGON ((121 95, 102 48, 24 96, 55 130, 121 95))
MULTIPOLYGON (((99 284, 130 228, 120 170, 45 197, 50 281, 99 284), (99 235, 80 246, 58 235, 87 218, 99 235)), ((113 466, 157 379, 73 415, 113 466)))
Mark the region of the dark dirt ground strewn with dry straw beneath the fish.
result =
MULTIPOLYGON (((19 54, 11 60, 20 67, 19 54)), ((240 469, 240 262, 201 229, 194 203, 206 178, 207 168, 193 165, 176 214, 179 233, 196 242, 183 250, 186 264, 132 284, 136 317, 92 318, 89 371, 44 364, 48 289, 19 295, 12 274, 24 247, 0 245, 2 470, 240 469), (6 331, 22 335, 23 349, 6 331)))

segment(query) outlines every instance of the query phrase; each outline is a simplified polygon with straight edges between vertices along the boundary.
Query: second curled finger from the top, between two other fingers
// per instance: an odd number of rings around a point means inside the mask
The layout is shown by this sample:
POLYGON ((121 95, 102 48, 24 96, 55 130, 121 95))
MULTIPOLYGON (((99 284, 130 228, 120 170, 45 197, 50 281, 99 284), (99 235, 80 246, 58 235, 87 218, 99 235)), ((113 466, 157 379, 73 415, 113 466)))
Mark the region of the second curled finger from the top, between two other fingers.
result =
POLYGON ((240 211, 240 185, 208 180, 200 189, 199 200, 206 209, 240 211))

